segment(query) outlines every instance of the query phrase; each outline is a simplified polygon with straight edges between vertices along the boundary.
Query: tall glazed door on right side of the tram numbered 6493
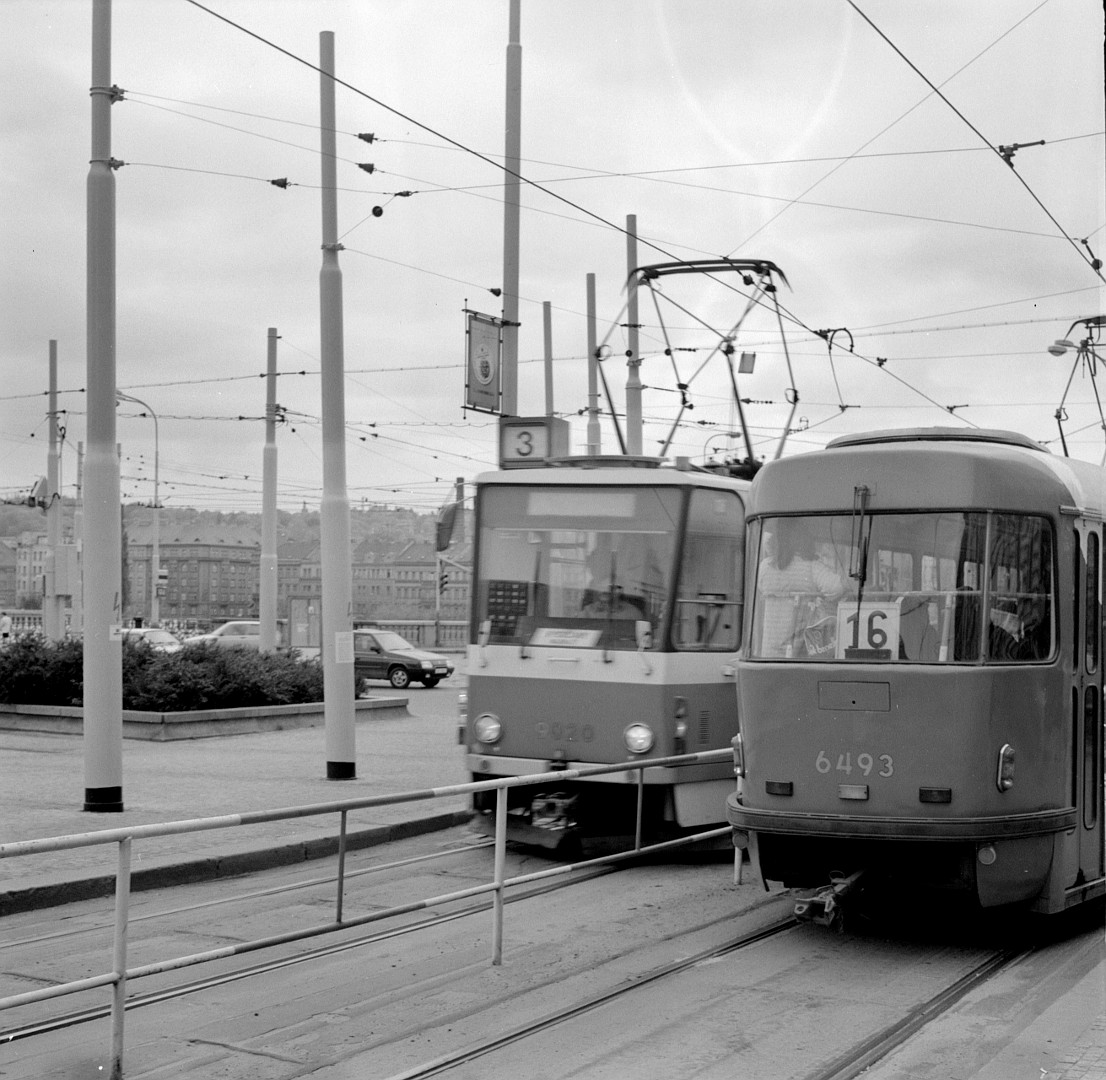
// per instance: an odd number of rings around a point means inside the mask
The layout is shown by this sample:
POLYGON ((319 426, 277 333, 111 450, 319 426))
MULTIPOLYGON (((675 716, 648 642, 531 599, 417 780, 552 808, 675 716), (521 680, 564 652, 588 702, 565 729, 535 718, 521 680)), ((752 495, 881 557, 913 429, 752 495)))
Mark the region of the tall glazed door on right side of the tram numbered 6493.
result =
POLYGON ((1073 633, 1072 795, 1078 811, 1078 882, 1104 874, 1103 847, 1103 523, 1076 526, 1077 625, 1073 633))

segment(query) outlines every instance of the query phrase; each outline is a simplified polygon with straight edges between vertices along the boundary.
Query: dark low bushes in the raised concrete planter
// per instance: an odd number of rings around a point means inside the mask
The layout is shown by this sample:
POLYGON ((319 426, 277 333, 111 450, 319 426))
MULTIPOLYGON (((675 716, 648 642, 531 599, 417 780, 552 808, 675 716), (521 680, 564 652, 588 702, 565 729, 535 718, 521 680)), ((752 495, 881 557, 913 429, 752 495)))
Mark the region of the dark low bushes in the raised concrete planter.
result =
MULTIPOLYGON (((0 651, 0 702, 81 705, 84 651, 79 641, 21 637, 0 651)), ((123 708, 152 713, 302 705, 323 699, 323 669, 294 653, 196 645, 159 653, 123 644, 123 708)))

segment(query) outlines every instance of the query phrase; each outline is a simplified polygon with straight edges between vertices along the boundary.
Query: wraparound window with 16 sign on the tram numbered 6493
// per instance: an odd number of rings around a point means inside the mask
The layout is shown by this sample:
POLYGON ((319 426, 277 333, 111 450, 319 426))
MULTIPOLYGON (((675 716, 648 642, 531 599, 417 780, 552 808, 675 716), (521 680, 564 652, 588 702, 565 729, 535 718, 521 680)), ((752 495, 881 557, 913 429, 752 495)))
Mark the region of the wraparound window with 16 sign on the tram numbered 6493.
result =
POLYGON ((1053 533, 994 512, 764 518, 757 660, 1027 663, 1054 647, 1053 533))

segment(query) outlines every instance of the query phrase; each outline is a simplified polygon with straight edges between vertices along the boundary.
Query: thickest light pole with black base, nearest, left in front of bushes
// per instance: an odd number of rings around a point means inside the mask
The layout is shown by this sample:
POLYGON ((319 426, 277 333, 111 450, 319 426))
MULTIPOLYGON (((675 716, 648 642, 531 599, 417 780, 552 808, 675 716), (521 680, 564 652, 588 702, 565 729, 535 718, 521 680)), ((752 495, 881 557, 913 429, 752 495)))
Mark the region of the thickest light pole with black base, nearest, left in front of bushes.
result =
POLYGON ((84 809, 123 810, 123 527, 115 439, 112 3, 92 4, 87 179, 87 454, 84 478, 84 809))

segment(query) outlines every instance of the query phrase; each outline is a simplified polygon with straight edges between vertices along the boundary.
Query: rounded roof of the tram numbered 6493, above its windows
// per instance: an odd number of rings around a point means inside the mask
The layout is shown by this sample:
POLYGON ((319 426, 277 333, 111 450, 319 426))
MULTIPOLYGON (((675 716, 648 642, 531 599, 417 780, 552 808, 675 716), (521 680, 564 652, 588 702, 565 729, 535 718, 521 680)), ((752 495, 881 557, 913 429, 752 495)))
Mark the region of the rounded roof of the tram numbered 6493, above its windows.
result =
POLYGON ((849 435, 822 450, 768 463, 750 512, 851 511, 865 486, 880 510, 1106 510, 1106 469, 1050 453, 1013 432, 901 428, 849 435))

